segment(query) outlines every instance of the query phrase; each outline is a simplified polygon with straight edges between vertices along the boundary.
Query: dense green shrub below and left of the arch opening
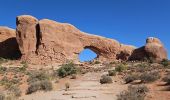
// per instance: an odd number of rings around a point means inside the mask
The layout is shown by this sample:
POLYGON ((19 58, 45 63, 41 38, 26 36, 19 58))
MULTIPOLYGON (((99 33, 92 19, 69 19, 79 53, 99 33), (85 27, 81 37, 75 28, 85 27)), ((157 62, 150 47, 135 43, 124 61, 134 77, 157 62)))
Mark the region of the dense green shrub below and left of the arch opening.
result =
POLYGON ((77 74, 78 69, 75 67, 73 63, 67 63, 61 65, 61 67, 57 70, 58 76, 66 77, 68 75, 77 74))

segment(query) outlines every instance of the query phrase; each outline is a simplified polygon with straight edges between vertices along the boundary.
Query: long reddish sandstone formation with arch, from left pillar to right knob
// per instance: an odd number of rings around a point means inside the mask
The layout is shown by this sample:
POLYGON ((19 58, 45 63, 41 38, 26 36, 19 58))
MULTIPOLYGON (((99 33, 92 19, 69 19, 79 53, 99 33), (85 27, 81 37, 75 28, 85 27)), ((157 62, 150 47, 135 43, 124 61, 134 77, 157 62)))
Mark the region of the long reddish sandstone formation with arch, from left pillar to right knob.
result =
MULTIPOLYGON (((10 30, 8 29, 8 31, 10 30)), ((4 34, 8 35, 8 31, 5 31, 4 34)), ((15 31, 11 33, 14 34, 15 31)), ((12 36, 7 36, 6 39, 10 37, 12 36)), ((15 39, 15 35, 13 37, 15 39)), ((6 39, 0 38, 0 41, 6 41, 6 39)), ((17 17, 16 40, 15 45, 8 47, 14 46, 16 50, 19 47, 21 60, 35 64, 64 63, 67 60, 79 61, 79 53, 86 48, 94 51, 97 54, 96 59, 100 61, 141 60, 149 56, 156 60, 167 58, 163 44, 156 38, 148 38, 146 46, 136 49, 134 46, 123 45, 113 39, 81 32, 70 24, 48 19, 38 21, 29 15, 17 17)))

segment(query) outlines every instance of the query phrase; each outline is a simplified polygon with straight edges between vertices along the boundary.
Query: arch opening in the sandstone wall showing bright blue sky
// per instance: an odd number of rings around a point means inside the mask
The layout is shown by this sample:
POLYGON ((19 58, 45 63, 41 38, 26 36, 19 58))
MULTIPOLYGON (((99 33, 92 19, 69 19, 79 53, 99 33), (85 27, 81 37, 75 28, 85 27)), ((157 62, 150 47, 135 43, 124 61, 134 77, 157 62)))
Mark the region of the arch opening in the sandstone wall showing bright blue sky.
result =
POLYGON ((98 57, 98 55, 92 49, 85 48, 79 54, 79 61, 80 62, 90 62, 90 61, 93 61, 97 57, 98 57))

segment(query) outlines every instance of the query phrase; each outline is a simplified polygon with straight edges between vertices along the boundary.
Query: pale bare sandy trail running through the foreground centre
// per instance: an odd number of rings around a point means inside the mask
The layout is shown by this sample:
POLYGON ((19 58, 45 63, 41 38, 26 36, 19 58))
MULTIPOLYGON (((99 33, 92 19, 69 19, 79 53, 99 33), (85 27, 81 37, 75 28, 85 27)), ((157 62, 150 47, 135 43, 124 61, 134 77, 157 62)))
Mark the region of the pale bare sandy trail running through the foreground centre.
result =
POLYGON ((99 79, 101 73, 87 73, 70 81, 70 89, 65 91, 67 80, 61 80, 58 90, 50 92, 37 92, 25 95, 20 100, 116 100, 116 95, 127 88, 116 77, 112 84, 101 85, 99 79), (117 82, 115 82, 117 81, 117 82))

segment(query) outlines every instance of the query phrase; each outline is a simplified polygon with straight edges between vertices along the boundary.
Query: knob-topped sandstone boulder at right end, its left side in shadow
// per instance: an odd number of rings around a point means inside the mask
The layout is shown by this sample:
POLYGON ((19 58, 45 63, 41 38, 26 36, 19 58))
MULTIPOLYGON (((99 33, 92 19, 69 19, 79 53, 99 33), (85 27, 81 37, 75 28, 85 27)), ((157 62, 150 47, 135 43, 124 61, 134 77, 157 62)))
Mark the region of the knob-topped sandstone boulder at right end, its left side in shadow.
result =
POLYGON ((162 61, 167 59, 167 51, 158 38, 149 37, 146 39, 145 46, 135 49, 129 60, 154 60, 162 61))

